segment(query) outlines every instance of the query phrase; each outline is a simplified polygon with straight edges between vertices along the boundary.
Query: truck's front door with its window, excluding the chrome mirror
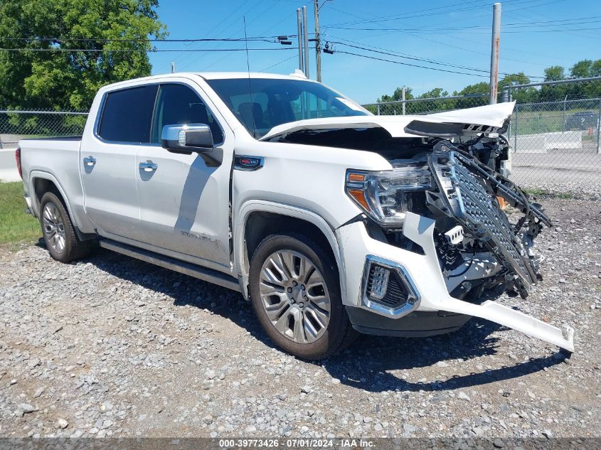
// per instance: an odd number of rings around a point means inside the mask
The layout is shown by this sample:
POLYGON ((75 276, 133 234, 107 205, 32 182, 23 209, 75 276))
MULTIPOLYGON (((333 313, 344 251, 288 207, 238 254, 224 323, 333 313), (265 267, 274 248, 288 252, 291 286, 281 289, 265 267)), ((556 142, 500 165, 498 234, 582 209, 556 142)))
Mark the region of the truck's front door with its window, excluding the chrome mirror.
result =
POLYGON ((216 117, 193 89, 183 84, 159 89, 151 131, 154 145, 140 146, 136 157, 140 231, 143 242, 156 252, 172 250, 229 269, 233 135, 224 139, 216 117), (223 148, 223 164, 208 167, 196 153, 174 154, 159 145, 164 125, 186 123, 211 127, 213 140, 223 148))

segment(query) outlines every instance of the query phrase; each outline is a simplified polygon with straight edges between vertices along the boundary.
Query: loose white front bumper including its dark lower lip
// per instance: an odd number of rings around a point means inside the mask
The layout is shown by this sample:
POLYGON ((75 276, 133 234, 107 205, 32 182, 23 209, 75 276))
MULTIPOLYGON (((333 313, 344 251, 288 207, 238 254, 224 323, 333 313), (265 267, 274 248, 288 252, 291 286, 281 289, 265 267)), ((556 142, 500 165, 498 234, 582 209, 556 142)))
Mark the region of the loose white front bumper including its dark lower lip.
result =
MULTIPOLYGON (((338 242, 353 242, 353 245, 340 245, 344 260, 358 263, 348 264, 344 272, 343 301, 353 328, 363 333, 429 336, 452 331, 461 326, 469 316, 473 316, 514 328, 570 352, 574 351, 574 331, 568 326, 563 329, 555 327, 494 301, 473 304, 452 297, 440 270, 434 238, 435 225, 436 221, 431 218, 415 213, 406 215, 403 235, 419 245, 423 254, 374 239, 362 222, 353 222, 336 230, 338 242), (371 265, 367 265, 369 260, 378 265, 382 262, 390 267, 400 268, 401 273, 410 281, 410 286, 415 289, 415 309, 405 309, 401 313, 399 309, 376 303, 377 296, 382 293, 379 287, 376 289, 376 299, 366 296, 367 280, 371 272, 371 265), (358 290, 359 286, 361 290, 358 290), (446 312, 442 313, 444 316, 438 316, 439 311, 446 312), (422 316, 422 313, 428 314, 422 316), (435 322, 420 323, 426 317, 435 319, 435 322), (415 323, 410 324, 410 321, 415 323)), ((375 274, 374 270, 374 276, 375 274)), ((391 274, 392 272, 388 275, 389 283, 391 274)))

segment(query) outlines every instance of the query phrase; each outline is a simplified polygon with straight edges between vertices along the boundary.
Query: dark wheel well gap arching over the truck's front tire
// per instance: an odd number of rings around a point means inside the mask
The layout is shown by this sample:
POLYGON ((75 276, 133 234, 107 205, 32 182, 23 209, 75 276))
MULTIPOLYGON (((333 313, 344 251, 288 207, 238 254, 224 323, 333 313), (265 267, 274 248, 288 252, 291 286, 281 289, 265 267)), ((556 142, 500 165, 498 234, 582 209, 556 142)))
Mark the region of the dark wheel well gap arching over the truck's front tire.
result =
POLYGON ((246 267, 249 266, 252 254, 265 237, 291 232, 309 237, 309 239, 319 245, 321 249, 327 253, 331 258, 331 261, 337 267, 334 250, 332 249, 328 238, 324 235, 324 232, 322 232, 317 225, 314 225, 307 220, 290 217, 289 215, 266 213, 263 211, 250 213, 250 216, 246 220, 244 230, 246 267))

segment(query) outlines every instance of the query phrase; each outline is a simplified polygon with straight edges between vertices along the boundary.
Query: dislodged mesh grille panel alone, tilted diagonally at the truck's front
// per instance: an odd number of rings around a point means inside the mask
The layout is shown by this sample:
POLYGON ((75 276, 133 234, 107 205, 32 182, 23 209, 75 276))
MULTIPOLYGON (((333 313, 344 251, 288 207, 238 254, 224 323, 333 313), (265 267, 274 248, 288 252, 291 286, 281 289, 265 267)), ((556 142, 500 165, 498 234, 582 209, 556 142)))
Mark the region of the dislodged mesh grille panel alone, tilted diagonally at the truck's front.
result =
POLYGON ((430 164, 447 214, 484 242, 509 273, 516 274, 523 283, 536 282, 526 250, 494 195, 469 170, 469 160, 455 151, 445 151, 432 154, 430 164))

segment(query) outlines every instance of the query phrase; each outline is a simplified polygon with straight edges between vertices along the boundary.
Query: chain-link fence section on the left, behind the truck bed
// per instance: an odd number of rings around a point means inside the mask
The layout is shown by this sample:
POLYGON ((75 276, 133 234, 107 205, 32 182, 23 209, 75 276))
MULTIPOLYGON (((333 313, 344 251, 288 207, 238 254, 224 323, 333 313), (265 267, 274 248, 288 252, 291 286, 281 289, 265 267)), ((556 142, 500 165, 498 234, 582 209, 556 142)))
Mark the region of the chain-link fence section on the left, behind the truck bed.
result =
POLYGON ((0 109, 0 149, 14 149, 27 137, 83 134, 87 112, 0 109))

